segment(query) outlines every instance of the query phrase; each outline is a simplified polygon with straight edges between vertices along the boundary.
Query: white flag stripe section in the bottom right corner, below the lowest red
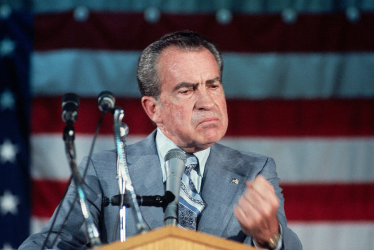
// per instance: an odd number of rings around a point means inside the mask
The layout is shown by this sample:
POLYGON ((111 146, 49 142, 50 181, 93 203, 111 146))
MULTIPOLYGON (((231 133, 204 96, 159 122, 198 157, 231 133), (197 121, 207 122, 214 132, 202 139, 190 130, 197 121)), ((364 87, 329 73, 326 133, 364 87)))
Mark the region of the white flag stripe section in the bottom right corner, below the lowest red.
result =
POLYGON ((373 222, 292 222, 288 226, 299 236, 303 249, 374 249, 373 222))

